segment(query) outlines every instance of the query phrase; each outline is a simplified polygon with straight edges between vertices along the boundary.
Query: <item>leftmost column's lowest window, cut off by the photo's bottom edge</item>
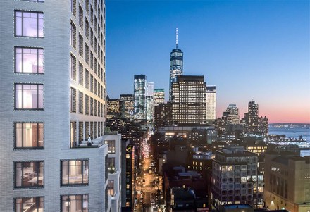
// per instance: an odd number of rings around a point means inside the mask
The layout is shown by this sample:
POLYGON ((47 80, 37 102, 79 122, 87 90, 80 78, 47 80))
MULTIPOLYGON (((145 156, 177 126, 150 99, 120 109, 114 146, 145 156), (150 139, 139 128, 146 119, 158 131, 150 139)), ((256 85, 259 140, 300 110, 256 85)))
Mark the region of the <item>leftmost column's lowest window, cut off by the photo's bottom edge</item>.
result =
POLYGON ((23 197, 14 199, 15 212, 44 211, 44 197, 23 197))

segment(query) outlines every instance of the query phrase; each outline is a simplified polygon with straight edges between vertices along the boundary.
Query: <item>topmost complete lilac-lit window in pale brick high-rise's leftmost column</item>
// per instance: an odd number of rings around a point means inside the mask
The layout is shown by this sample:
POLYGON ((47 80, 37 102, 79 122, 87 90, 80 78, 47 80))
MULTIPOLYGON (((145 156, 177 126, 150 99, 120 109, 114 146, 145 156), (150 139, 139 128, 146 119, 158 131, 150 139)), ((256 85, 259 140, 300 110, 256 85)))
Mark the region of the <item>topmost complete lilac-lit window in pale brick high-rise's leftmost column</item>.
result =
POLYGON ((15 36, 44 37, 42 12, 15 11, 15 36))

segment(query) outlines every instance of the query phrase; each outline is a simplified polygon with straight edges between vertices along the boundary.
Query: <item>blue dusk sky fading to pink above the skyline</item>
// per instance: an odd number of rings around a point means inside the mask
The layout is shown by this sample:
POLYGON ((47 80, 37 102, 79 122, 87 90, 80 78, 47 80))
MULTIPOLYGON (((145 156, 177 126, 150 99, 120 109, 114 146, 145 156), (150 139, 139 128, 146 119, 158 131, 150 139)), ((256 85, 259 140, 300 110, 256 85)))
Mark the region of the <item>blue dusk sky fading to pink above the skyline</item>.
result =
POLYGON ((144 74, 168 96, 169 62, 217 87, 217 114, 259 104, 271 123, 310 123, 309 1, 106 1, 106 79, 111 98, 144 74))

